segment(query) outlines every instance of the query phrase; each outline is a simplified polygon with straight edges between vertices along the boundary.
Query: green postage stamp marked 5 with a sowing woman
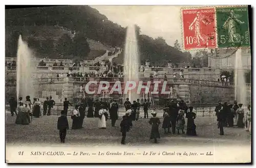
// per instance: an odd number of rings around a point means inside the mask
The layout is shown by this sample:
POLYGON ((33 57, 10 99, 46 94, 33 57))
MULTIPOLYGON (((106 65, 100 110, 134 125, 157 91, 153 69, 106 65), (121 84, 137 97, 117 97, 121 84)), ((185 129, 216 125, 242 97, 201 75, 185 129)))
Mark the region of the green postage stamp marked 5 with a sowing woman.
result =
POLYGON ((216 8, 218 46, 250 46, 248 7, 216 8))

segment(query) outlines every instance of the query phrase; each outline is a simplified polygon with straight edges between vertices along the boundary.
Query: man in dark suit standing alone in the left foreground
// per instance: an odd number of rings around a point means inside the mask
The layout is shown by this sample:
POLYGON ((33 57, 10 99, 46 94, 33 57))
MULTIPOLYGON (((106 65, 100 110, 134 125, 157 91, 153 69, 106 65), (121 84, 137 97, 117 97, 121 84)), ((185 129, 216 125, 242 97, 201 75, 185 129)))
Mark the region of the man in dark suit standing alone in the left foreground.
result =
POLYGON ((69 122, 64 110, 61 110, 61 116, 58 118, 57 129, 59 130, 60 142, 65 143, 69 122))

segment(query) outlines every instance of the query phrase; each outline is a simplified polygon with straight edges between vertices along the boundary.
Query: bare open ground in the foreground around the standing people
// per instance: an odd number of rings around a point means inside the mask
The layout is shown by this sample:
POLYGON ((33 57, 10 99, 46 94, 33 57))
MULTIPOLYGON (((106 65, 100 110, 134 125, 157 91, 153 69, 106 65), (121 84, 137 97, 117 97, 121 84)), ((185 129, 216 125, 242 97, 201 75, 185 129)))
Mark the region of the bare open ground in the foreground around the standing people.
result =
MULTIPOLYGON (((57 130, 58 116, 41 116, 33 118, 30 125, 16 125, 16 116, 6 113, 6 142, 8 145, 26 145, 37 143, 43 145, 45 143, 59 144, 59 135, 57 130)), ((68 116, 69 126, 72 127, 72 119, 68 116)), ((119 145, 121 141, 121 132, 119 124, 121 118, 116 122, 117 127, 111 127, 111 120, 106 124, 106 129, 98 129, 98 118, 84 118, 83 129, 68 130, 66 144, 72 146, 88 146, 88 145, 119 145)), ((162 119, 161 119, 162 122, 162 119)), ((216 117, 197 117, 195 119, 197 125, 196 137, 187 135, 164 134, 160 127, 161 139, 157 145, 170 146, 226 146, 226 145, 250 145, 250 134, 240 128, 224 128, 224 136, 220 136, 217 129, 216 117)), ((133 128, 127 133, 126 143, 132 146, 152 145, 149 140, 151 126, 148 119, 142 118, 137 122, 133 122, 133 128)), ((185 130, 186 131, 186 130, 185 130)), ((65 144, 65 145, 66 145, 65 144)))

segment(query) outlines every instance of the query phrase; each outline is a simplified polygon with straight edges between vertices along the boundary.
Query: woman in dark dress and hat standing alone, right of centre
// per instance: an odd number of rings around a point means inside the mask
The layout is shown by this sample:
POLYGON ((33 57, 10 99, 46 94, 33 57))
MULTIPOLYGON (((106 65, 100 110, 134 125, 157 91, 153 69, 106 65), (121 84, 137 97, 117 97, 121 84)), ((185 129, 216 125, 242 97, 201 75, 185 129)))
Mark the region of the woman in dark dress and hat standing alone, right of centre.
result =
POLYGON ((153 117, 150 118, 150 121, 148 121, 148 123, 152 125, 150 139, 154 139, 154 143, 157 143, 157 138, 160 138, 158 129, 161 122, 160 122, 160 119, 156 117, 157 115, 156 111, 152 110, 151 114, 153 115, 153 117))

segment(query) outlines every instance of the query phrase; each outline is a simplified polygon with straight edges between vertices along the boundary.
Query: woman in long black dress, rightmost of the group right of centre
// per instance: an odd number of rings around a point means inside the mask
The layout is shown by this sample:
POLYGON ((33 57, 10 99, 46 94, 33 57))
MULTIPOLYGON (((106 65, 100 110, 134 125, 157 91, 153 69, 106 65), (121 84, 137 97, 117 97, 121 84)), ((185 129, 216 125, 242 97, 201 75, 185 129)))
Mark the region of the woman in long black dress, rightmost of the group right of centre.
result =
POLYGON ((196 113, 193 112, 193 107, 189 107, 189 112, 186 113, 187 118, 187 135, 196 136, 196 125, 194 119, 196 118, 196 113))

